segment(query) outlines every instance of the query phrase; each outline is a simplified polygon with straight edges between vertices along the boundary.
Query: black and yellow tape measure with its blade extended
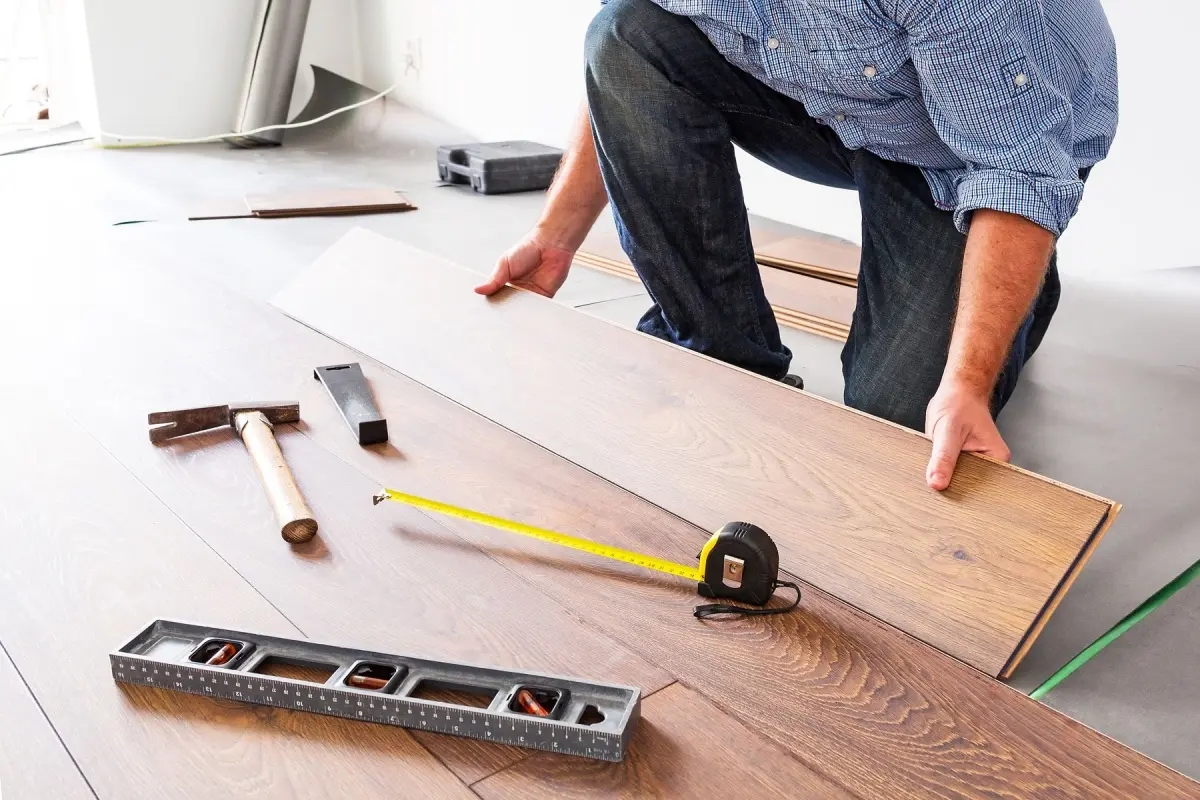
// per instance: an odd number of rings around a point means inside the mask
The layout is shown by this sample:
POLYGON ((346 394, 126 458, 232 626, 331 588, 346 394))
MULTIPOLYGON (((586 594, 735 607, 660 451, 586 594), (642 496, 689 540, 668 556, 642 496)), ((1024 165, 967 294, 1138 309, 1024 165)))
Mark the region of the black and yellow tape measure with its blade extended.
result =
POLYGON ((436 513, 457 517, 467 522, 474 522, 488 528, 506 530, 521 536, 538 539, 551 545, 570 547, 576 551, 624 561, 655 572, 678 576, 696 582, 696 591, 704 597, 719 597, 737 600, 751 606, 766 606, 775 589, 788 587, 796 590, 796 600, 790 606, 776 608, 743 608, 725 603, 697 606, 695 615, 697 618, 713 616, 716 614, 781 614, 796 608, 800 602, 800 589, 792 582, 779 579, 779 549, 775 542, 762 528, 751 525, 748 522, 731 522, 704 542, 701 548, 698 566, 689 566, 668 561, 644 553, 635 553, 611 545, 601 545, 589 539, 581 539, 569 534, 560 534, 545 528, 535 528, 512 519, 493 517, 480 511, 472 511, 460 506, 430 500, 415 494, 397 492, 396 489, 383 489, 373 498, 379 505, 384 500, 394 500, 408 506, 433 511, 436 513))

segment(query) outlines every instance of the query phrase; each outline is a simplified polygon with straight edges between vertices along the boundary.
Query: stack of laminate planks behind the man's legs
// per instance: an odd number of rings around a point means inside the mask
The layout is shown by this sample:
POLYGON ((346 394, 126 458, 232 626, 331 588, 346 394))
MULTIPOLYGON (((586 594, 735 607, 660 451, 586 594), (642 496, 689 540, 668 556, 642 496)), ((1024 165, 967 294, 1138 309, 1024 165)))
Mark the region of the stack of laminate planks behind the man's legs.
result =
MULTIPOLYGON (((858 247, 762 217, 751 217, 751 235, 763 290, 779 324, 845 342, 854 315, 858 247)), ((575 260, 640 279, 607 217, 588 234, 575 260)))

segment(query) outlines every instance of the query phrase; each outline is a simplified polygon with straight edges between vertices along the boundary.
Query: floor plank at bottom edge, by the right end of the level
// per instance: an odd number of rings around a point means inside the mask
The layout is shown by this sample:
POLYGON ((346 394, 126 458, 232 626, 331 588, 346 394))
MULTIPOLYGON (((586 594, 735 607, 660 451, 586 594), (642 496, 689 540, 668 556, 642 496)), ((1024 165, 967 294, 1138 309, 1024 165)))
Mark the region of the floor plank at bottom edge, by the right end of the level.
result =
POLYGON ((642 702, 624 762, 539 753, 472 788, 486 800, 854 796, 679 684, 642 702))

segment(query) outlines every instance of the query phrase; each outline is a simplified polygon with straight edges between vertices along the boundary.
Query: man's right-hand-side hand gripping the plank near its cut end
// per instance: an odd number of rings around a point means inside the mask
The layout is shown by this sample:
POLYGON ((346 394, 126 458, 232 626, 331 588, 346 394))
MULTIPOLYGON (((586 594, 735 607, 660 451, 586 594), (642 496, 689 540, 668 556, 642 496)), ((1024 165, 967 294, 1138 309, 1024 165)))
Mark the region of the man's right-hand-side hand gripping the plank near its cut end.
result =
POLYGON ((1012 453, 991 419, 988 396, 966 386, 942 384, 925 410, 925 433, 934 439, 934 453, 925 468, 925 482, 941 492, 950 485, 960 452, 977 452, 1000 461, 1012 453))

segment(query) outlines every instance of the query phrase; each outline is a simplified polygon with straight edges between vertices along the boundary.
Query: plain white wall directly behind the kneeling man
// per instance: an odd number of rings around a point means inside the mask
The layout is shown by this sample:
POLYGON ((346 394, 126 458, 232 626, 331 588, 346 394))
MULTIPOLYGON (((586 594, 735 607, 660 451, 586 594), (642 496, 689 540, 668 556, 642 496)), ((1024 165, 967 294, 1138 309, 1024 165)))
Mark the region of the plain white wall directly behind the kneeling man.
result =
MULTIPOLYGON (((480 139, 562 145, 583 96, 592 0, 359 0, 362 74, 480 139), (409 60, 409 56, 412 59, 409 60)), ((1200 265, 1194 0, 1106 0, 1121 64, 1121 126, 1061 243, 1066 272, 1200 265)), ((740 156, 740 154, 739 154, 740 156)), ((857 197, 739 157, 751 210, 856 241, 857 197)))

